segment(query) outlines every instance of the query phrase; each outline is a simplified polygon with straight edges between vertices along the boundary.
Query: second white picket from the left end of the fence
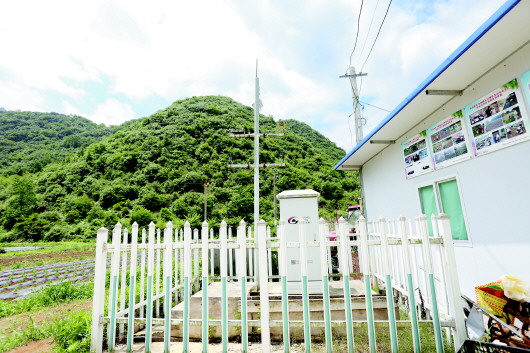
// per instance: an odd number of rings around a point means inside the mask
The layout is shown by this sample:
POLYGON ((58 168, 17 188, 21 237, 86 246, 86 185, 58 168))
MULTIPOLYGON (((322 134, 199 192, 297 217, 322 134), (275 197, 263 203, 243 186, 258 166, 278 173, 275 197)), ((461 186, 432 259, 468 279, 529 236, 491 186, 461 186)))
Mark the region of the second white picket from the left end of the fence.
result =
POLYGON ((109 293, 109 330, 108 330, 108 348, 114 350, 114 341, 116 337, 116 307, 118 301, 118 277, 120 273, 120 237, 121 223, 117 223, 112 230, 112 245, 114 253, 112 254, 111 274, 110 274, 110 293, 109 293))

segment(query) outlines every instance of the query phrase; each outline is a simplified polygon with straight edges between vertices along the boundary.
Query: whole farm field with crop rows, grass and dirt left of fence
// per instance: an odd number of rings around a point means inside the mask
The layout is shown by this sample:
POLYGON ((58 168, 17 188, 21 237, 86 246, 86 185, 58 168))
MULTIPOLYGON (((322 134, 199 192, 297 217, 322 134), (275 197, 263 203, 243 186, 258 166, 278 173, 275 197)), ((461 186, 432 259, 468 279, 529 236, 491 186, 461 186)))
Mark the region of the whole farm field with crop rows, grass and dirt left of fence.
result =
POLYGON ((0 254, 0 352, 66 352, 69 335, 82 337, 90 321, 94 245, 17 243, 40 249, 10 252, 11 245, 0 244, 8 250, 0 254))

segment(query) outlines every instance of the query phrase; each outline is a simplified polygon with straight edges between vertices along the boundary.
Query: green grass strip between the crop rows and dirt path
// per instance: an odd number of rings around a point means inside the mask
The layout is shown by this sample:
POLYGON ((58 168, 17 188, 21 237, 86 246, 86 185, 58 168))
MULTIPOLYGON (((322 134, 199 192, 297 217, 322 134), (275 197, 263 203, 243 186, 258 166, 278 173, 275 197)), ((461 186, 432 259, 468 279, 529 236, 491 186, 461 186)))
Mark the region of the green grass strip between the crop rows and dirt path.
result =
POLYGON ((0 301, 0 318, 39 310, 55 304, 90 299, 93 295, 93 288, 93 282, 51 284, 19 300, 0 301))

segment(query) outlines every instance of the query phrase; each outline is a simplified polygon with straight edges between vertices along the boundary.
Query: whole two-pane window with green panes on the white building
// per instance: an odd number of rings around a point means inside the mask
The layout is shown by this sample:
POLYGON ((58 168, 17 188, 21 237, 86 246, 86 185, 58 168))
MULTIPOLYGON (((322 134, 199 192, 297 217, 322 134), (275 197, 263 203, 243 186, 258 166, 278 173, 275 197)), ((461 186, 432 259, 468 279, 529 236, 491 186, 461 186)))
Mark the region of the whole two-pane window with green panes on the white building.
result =
POLYGON ((418 189, 421 212, 429 218, 429 234, 432 235, 431 215, 447 214, 451 222, 453 240, 467 241, 466 221, 460 191, 456 179, 444 180, 418 189))

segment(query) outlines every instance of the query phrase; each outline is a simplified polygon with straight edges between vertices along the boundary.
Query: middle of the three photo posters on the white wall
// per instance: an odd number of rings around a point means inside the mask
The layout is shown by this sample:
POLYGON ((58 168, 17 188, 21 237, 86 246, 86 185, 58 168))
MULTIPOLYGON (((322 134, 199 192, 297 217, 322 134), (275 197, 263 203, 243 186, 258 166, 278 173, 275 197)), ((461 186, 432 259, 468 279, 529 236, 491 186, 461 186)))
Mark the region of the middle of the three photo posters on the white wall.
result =
POLYGON ((431 142, 434 169, 471 158, 467 136, 461 110, 428 128, 427 138, 431 142))

